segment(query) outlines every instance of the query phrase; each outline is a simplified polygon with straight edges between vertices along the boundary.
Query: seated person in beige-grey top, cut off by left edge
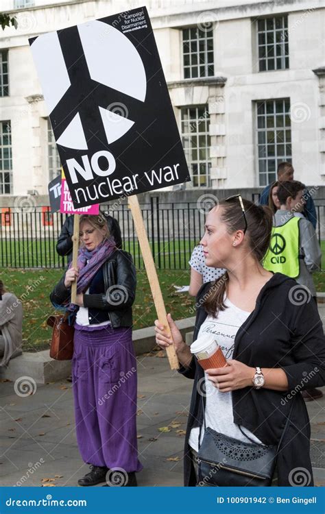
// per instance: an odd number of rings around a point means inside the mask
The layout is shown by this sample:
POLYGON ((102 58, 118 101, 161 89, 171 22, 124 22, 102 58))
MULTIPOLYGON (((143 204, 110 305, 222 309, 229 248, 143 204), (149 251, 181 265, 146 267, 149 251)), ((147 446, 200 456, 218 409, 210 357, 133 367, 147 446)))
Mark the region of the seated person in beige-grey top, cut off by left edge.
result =
POLYGON ((7 293, 0 280, 0 366, 21 355, 23 306, 12 293, 7 293))

